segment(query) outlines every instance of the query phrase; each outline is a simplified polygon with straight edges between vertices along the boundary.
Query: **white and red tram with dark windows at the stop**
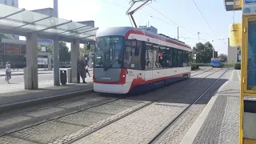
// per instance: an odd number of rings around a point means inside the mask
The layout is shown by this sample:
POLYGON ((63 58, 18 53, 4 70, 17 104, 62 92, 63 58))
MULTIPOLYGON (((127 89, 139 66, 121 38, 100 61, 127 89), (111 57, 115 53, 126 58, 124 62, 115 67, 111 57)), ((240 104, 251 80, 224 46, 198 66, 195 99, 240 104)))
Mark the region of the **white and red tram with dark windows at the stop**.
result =
POLYGON ((191 47, 164 34, 134 27, 99 29, 94 51, 94 91, 142 92, 190 78, 191 47))

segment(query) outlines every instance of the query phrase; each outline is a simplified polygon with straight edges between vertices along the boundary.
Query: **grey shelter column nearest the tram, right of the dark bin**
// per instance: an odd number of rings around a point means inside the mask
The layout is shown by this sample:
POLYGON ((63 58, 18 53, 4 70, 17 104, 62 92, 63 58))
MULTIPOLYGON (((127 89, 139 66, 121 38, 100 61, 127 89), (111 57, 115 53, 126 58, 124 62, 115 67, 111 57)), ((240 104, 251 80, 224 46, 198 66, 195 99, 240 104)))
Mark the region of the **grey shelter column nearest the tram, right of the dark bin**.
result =
POLYGON ((79 60, 79 41, 74 39, 71 43, 71 82, 78 83, 80 78, 78 78, 78 60, 79 60))

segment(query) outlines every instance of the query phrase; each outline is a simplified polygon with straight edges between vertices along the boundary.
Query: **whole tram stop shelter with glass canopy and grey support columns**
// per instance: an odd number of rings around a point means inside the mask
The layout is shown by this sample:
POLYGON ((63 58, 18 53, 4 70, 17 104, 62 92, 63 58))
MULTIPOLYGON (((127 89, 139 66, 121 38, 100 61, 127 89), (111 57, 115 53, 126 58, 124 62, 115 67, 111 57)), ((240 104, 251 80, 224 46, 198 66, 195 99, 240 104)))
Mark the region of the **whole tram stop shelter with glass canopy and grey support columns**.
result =
POLYGON ((37 38, 54 40, 54 86, 59 86, 58 42, 71 43, 71 82, 78 82, 79 44, 94 40, 98 28, 0 4, 0 33, 26 37, 25 89, 38 89, 37 38))

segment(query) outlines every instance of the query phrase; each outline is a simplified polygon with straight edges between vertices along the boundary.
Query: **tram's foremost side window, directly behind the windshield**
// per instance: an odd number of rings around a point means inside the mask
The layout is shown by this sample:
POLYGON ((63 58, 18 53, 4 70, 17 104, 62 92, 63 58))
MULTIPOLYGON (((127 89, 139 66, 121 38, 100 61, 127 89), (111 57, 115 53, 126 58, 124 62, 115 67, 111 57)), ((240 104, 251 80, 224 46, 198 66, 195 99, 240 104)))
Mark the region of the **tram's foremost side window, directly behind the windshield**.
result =
POLYGON ((137 46, 136 41, 130 41, 130 46, 127 46, 129 42, 126 42, 126 50, 124 55, 124 66, 127 69, 141 70, 141 51, 142 47, 137 46), (134 44, 135 43, 135 44, 134 44))

